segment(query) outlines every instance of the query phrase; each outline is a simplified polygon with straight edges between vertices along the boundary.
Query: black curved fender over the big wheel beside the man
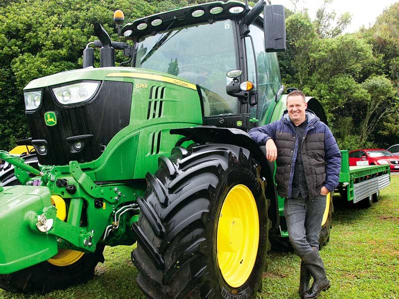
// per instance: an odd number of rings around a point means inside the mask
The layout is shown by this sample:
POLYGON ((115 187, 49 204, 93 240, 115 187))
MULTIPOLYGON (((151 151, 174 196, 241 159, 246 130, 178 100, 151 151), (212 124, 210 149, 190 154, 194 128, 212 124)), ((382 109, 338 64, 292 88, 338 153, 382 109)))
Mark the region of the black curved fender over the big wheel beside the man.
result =
POLYGON ((252 157, 255 158, 260 167, 261 174, 266 178, 266 195, 270 198, 269 218, 272 226, 279 226, 279 213, 277 203, 277 190, 274 184, 274 163, 266 159, 266 150, 259 147, 252 138, 242 130, 233 128, 216 128, 212 126, 199 126, 192 128, 173 129, 171 134, 182 135, 186 140, 192 140, 195 143, 224 143, 235 145, 250 150, 252 157))

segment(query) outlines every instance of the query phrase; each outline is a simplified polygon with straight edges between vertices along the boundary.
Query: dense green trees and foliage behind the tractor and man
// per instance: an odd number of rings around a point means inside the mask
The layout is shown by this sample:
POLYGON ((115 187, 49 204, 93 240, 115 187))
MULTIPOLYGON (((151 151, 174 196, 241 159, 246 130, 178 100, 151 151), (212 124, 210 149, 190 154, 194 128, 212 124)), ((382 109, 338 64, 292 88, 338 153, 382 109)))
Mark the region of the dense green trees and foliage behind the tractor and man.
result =
MULTIPOLYGON (((298 0, 292 0, 296 2, 298 0)), ((286 10, 287 51, 279 53, 286 87, 318 98, 341 149, 399 143, 399 2, 371 28, 343 34, 350 14, 325 0, 311 20, 286 10)), ((29 137, 23 87, 32 79, 81 67, 99 21, 113 32, 112 15, 126 21, 195 4, 196 0, 10 0, 0 3, 0 149, 29 137)), ((253 4, 253 3, 252 3, 253 4)), ((115 33, 113 40, 119 40, 115 33)), ((123 60, 119 57, 120 61, 123 60)))

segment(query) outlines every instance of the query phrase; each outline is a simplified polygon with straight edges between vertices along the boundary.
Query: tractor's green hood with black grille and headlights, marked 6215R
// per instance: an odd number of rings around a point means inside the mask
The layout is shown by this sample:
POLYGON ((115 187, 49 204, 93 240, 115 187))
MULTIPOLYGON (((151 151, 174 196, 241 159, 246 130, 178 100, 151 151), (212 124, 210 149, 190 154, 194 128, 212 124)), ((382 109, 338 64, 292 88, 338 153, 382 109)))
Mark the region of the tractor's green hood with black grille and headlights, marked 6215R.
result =
MULTIPOLYGON (((148 138, 152 143, 148 146, 150 151, 144 155, 150 159, 151 153, 161 153, 160 135, 157 138, 148 135, 147 141, 139 143, 138 134, 143 127, 177 121, 181 123, 175 125, 178 127, 202 124, 200 97, 195 84, 143 68, 67 71, 31 81, 25 87, 25 107, 29 94, 36 100, 39 95, 36 105, 25 110, 39 163, 85 163, 98 159, 105 152, 104 158, 119 165, 116 174, 112 174, 113 179, 126 179, 136 174, 136 159, 130 156, 131 150, 139 144, 147 145, 148 138), (177 111, 192 113, 179 114, 177 111), (114 143, 111 143, 113 139, 114 143), (119 144, 122 140, 127 142, 124 145, 127 148, 119 144), (117 162, 127 159, 131 164, 117 162)), ((149 130, 154 134, 154 131, 164 129, 149 130)), ((163 136, 166 134, 166 131, 162 133, 163 136)), ((104 180, 104 176, 97 179, 104 180)))

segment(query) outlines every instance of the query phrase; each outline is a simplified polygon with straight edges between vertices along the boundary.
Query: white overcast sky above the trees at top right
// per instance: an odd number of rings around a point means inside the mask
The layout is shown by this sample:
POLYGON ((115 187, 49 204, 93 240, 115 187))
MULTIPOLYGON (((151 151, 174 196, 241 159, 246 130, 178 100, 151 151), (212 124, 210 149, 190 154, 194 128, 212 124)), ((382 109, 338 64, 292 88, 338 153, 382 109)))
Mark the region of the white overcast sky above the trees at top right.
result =
MULTIPOLYGON (((308 8, 309 15, 314 19, 316 9, 323 4, 323 0, 302 0, 299 3, 299 7, 308 8)), ((377 16, 380 15, 383 10, 398 0, 333 0, 330 4, 330 9, 334 9, 337 15, 348 11, 352 14, 351 25, 348 26, 345 32, 355 32, 362 25, 366 28, 373 25, 377 16)), ((292 9, 292 4, 289 0, 271 0, 272 4, 282 4, 287 8, 292 9)))

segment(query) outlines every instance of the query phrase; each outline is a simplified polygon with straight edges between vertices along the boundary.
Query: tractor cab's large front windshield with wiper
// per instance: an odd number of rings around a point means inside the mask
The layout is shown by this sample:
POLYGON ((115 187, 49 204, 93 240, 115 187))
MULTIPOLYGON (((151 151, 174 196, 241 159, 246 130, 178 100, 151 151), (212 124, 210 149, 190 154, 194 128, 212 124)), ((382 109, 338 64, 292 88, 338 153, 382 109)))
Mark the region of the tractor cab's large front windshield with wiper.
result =
POLYGON ((162 71, 202 89, 205 116, 238 113, 237 98, 226 94, 226 73, 237 68, 231 20, 174 28, 136 43, 135 67, 162 71))

